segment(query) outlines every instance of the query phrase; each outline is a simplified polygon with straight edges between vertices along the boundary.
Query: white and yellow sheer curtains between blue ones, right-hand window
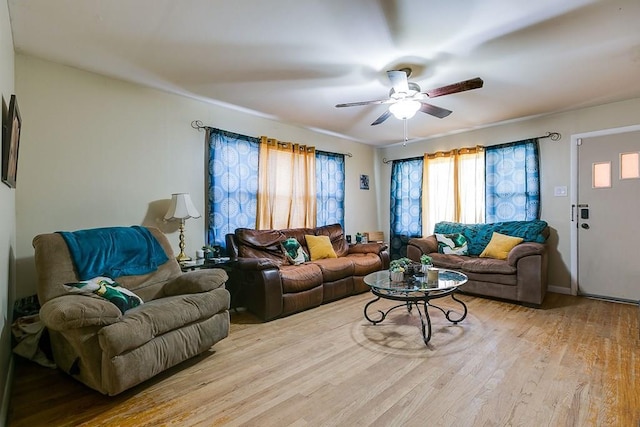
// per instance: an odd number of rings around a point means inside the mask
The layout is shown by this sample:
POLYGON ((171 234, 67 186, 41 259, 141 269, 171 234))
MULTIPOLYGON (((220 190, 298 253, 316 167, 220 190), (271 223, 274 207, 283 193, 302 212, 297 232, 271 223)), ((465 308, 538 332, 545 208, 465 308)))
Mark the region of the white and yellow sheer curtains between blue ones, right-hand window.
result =
POLYGON ((440 221, 484 222, 483 147, 425 154, 423 180, 423 236, 440 221))

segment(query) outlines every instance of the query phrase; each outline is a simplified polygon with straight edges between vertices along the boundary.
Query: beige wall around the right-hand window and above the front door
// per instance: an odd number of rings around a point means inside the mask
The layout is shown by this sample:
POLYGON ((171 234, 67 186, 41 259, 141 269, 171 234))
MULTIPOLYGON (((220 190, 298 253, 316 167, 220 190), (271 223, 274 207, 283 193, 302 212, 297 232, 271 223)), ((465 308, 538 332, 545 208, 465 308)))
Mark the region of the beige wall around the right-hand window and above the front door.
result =
POLYGON ((568 197, 554 197, 554 187, 566 186, 568 191, 571 191, 571 135, 638 123, 640 123, 640 99, 632 99, 530 120, 515 121, 431 140, 416 141, 405 147, 399 145, 379 150, 375 167, 379 171, 378 179, 382 183, 378 194, 379 200, 382 202, 379 212, 380 226, 384 226, 384 230, 389 229, 389 210, 385 207, 389 206, 391 165, 383 164, 383 157, 402 159, 420 156, 425 152, 431 153, 476 144, 495 145, 546 135, 547 132, 560 132, 562 139, 558 142, 553 142, 550 139, 540 140, 542 187, 540 198, 541 218, 547 221, 553 229, 550 237, 549 285, 565 288, 568 292, 571 284, 570 195, 568 197))

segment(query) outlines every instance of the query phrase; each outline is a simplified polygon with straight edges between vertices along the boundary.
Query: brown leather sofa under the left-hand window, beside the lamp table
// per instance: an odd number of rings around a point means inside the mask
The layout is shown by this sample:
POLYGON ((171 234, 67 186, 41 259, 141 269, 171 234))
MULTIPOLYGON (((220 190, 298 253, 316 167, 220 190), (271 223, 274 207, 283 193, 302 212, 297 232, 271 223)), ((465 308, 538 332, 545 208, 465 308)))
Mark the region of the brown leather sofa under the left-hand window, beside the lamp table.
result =
POLYGON ((240 304, 263 320, 366 292, 364 276, 389 268, 385 244, 350 245, 340 224, 286 230, 239 228, 226 235, 226 244, 241 286, 240 304), (294 237, 309 253, 305 235, 328 236, 337 258, 290 265, 280 243, 294 237))

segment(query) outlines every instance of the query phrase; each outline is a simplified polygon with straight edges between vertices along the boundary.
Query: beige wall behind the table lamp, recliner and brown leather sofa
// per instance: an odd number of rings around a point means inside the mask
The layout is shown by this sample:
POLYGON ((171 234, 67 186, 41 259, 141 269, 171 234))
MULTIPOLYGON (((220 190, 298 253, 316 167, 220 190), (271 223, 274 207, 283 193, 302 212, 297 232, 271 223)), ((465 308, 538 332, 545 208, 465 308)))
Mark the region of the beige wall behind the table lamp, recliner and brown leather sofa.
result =
MULTIPOLYGON (((16 55, 16 91, 23 118, 17 212, 17 293, 35 293, 31 240, 39 233, 89 227, 163 224, 171 193, 189 192, 203 213, 204 132, 191 121, 250 136, 350 152, 346 160, 349 233, 376 227, 375 191, 359 190, 373 175, 366 145, 258 118, 199 100, 16 55), (362 215, 367 212, 367 215, 362 215)), ((204 244, 204 218, 186 223, 187 253, 204 244)))

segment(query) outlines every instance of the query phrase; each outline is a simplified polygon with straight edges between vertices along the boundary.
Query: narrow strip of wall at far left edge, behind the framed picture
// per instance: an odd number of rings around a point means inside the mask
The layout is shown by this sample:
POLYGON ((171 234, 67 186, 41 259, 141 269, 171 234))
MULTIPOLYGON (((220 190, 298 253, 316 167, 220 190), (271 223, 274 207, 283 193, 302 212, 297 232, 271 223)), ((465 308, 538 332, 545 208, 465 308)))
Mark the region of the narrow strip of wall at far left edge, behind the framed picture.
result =
MULTIPOLYGON (((0 92, 6 106, 14 93, 13 38, 9 10, 0 1, 0 92)), ((0 425, 4 425, 9 398, 11 316, 15 290, 16 191, 0 183, 0 425)))

